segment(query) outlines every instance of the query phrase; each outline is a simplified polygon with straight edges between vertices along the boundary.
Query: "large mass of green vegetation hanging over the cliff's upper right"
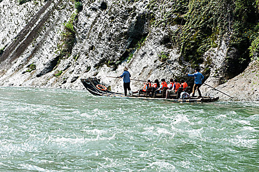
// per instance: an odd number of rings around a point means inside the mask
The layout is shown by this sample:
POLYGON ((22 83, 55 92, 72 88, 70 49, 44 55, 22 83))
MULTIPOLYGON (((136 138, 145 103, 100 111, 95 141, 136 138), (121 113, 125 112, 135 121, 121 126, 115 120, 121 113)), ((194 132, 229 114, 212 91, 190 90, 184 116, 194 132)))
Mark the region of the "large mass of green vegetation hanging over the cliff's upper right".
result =
MULTIPOLYGON (((258 52, 259 9, 258 0, 153 0, 149 9, 162 17, 155 27, 169 29, 170 42, 177 46, 181 57, 194 65, 203 62, 210 48, 220 47, 225 41, 229 47, 226 61, 243 70, 251 60, 250 53, 258 52), (171 9, 170 11, 166 9, 171 9), (234 52, 234 53, 233 53, 234 52)), ((172 46, 172 47, 174 47, 172 46)), ((180 61, 181 62, 181 61, 180 61)))

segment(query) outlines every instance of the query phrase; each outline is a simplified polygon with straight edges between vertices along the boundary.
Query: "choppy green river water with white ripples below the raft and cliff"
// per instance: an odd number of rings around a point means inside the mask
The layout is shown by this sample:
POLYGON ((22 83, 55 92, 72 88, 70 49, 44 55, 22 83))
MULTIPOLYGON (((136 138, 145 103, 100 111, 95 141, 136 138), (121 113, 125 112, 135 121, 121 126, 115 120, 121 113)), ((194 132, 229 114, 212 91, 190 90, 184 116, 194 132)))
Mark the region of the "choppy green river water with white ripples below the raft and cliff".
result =
POLYGON ((259 103, 0 87, 1 172, 259 172, 259 103))

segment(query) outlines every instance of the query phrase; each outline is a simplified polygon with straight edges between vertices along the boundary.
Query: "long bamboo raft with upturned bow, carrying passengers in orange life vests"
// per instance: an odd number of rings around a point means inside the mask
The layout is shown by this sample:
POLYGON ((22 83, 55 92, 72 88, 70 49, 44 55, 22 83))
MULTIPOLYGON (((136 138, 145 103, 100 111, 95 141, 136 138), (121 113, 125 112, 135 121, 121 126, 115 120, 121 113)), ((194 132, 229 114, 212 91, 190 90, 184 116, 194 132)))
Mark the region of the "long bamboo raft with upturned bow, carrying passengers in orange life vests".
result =
MULTIPOLYGON (((166 89, 162 90, 162 92, 154 93, 148 89, 145 92, 139 92, 138 95, 128 95, 125 96, 123 93, 113 92, 108 89, 102 89, 103 87, 100 85, 100 80, 97 78, 88 78, 88 79, 81 79, 82 84, 85 88, 93 95, 97 96, 109 96, 109 97, 125 97, 125 98, 132 98, 132 99, 145 99, 145 100, 167 100, 167 101, 174 101, 174 102, 214 102, 219 100, 219 97, 209 97, 209 96, 202 96, 202 97, 190 97, 187 99, 181 99, 180 93, 183 89, 180 89, 174 93, 173 95, 169 95, 168 99, 164 99, 166 89)), ((106 88, 104 86, 104 88, 106 88)), ((190 91, 190 88, 188 89, 190 91)))

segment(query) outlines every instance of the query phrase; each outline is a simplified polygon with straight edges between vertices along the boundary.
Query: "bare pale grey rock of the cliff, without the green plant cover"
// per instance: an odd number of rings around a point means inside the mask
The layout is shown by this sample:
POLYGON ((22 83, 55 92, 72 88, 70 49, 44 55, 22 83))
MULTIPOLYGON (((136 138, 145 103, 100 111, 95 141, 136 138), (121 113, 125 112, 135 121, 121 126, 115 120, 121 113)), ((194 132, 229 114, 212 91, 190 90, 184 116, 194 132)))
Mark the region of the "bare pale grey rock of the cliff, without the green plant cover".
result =
MULTIPOLYGON (((16 0, 0 2, 1 15, 7 14, 2 16, 4 31, 0 37, 0 48, 5 47, 0 60, 2 86, 83 89, 80 78, 96 76, 113 90, 122 91, 122 80, 106 76, 121 75, 124 66, 135 79, 184 78, 193 84, 185 72, 193 72, 199 60, 183 57, 179 51, 180 40, 174 39, 175 33, 185 25, 187 19, 181 17, 188 10, 183 10, 179 17, 172 12, 175 2, 170 0, 82 0, 81 3, 83 10, 79 12, 70 0, 29 1, 23 5, 17 5, 16 0), (10 21, 15 22, 8 27, 10 21), (71 44, 71 53, 61 55, 64 24, 69 21, 75 30, 75 42, 71 44), (14 45, 15 37, 22 34, 24 37, 20 36, 14 45), (13 51, 6 53, 12 45, 13 51)), ((237 58, 238 50, 229 49, 228 39, 218 39, 215 43, 219 46, 206 50, 200 67, 206 79, 210 76, 209 84, 218 86, 235 76, 228 70, 238 67, 234 64, 229 67, 237 58)), ((131 83, 133 89, 141 85, 131 83)), ((203 91, 217 94, 205 88, 203 91)))

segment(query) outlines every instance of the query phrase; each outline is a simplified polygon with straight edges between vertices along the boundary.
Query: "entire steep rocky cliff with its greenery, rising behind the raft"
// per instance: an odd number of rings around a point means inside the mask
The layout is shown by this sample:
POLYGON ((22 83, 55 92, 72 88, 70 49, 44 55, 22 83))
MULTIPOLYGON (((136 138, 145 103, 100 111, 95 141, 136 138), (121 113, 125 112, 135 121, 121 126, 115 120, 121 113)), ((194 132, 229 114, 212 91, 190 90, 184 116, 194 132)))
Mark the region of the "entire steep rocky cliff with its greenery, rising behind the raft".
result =
POLYGON ((208 85, 259 100, 255 0, 0 0, 0 11, 2 86, 83 89, 80 78, 96 76, 122 91, 106 76, 124 66, 135 79, 192 85, 185 73, 199 66, 208 85))

